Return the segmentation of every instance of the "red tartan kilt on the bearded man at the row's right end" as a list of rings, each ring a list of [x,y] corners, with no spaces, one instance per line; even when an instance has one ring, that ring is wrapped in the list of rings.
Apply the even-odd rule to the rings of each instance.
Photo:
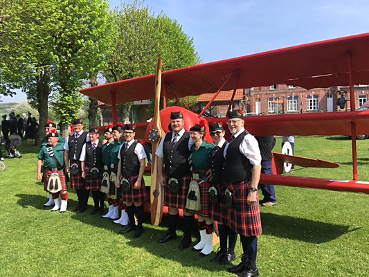
[[[262,222],[259,201],[257,199],[254,204],[246,204],[251,182],[240,181],[226,186],[233,193],[233,208],[228,208],[228,226],[240,235],[260,235]]]

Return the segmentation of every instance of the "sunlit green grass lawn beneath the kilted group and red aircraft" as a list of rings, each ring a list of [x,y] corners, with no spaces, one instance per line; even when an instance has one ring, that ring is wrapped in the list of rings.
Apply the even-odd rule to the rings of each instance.
[[[357,142],[362,181],[369,181],[368,147],[368,140]],[[73,190],[66,213],[51,213],[43,208],[48,195],[36,179],[38,148],[19,150],[23,158],[6,160],[0,172],[0,276],[235,276],[209,262],[213,256],[179,251],[179,238],[158,244],[168,227],[165,218],[158,227],[146,220],[145,233],[133,240],[131,233],[119,235],[122,228],[111,220],[71,211],[77,203]],[[274,150],[280,152],[280,139]],[[296,137],[295,152],[340,167],[296,167],[289,175],[352,179],[346,137]],[[260,276],[369,275],[368,195],[283,186],[276,186],[276,195],[277,206],[261,207]],[[89,205],[91,211],[91,198]],[[193,235],[198,236],[195,226]],[[241,253],[237,242],[236,254]]]

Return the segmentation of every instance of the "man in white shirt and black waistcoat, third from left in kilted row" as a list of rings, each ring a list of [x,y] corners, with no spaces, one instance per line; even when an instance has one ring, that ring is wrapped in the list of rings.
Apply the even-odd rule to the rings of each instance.
[[[84,143],[80,156],[82,178],[86,181],[84,188],[88,193],[88,196],[84,197],[80,213],[87,210],[89,193],[90,190],[92,190],[94,206],[90,215],[95,215],[101,208],[104,208],[104,203],[102,203],[102,206],[99,208],[102,172],[104,170],[102,164],[102,141],[98,139],[99,136],[99,129],[97,127],[91,127],[89,129],[90,141]]]

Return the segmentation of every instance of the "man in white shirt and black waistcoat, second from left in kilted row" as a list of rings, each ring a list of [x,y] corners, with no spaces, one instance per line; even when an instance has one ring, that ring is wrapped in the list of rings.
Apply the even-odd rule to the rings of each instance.
[[[82,118],[75,118],[72,122],[73,131],[66,137],[64,143],[64,164],[66,172],[71,172],[71,188],[75,189],[78,197],[78,205],[73,211],[80,211],[85,202],[84,198],[89,197],[89,191],[84,188],[84,179],[80,166],[80,154],[84,143],[89,141],[88,132],[83,131]],[[71,127],[72,130],[72,127]]]

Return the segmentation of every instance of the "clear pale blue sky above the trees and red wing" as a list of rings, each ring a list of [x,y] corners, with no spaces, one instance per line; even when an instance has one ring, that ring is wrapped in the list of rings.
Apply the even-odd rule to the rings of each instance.
[[[108,0],[111,8],[119,0]],[[203,62],[369,31],[369,1],[146,0],[194,38]],[[1,97],[3,102],[26,98]]]

